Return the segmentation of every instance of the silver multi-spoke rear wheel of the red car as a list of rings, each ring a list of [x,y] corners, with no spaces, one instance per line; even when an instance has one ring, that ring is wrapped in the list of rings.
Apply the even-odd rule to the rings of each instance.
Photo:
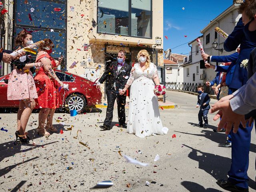
[[[68,96],[65,101],[65,108],[68,112],[70,112],[70,110],[83,112],[86,108],[86,105],[86,99],[81,94],[72,94]]]

